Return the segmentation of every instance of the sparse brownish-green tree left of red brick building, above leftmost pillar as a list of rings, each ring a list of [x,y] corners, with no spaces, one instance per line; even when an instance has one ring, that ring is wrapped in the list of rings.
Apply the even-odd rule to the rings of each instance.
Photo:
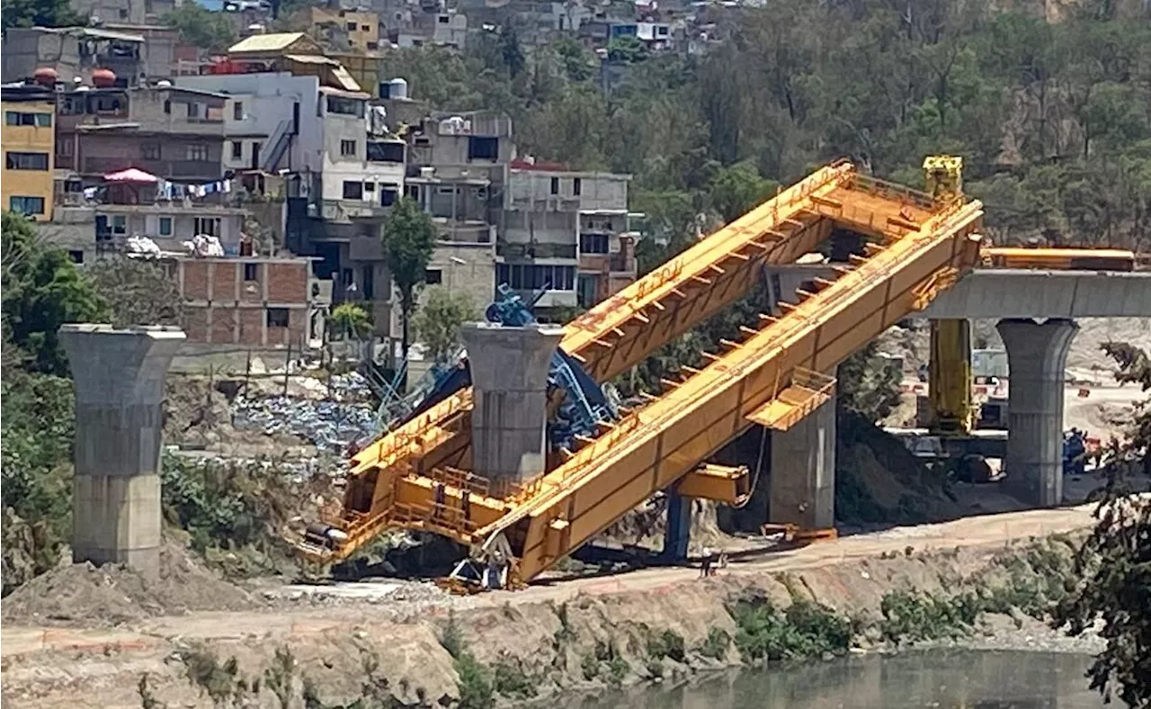
[[[87,275],[112,310],[112,323],[181,325],[184,304],[180,287],[163,264],[127,257],[100,259]]]

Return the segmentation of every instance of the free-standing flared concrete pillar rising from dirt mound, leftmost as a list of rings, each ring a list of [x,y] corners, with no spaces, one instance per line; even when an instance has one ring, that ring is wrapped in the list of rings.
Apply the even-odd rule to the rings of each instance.
[[[66,325],[76,391],[73,561],[160,561],[163,381],[184,343],[178,328]]]

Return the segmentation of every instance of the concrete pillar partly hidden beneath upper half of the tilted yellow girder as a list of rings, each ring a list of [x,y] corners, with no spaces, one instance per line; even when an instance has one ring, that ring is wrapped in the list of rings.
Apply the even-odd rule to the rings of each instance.
[[[836,525],[834,397],[790,429],[771,432],[768,519],[805,529]]]

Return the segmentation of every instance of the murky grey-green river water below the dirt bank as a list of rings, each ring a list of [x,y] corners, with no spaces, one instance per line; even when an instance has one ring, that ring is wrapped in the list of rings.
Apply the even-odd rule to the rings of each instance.
[[[572,709],[1100,709],[1067,653],[923,650],[852,656],[619,693]],[[1121,707],[1113,702],[1110,707]]]

